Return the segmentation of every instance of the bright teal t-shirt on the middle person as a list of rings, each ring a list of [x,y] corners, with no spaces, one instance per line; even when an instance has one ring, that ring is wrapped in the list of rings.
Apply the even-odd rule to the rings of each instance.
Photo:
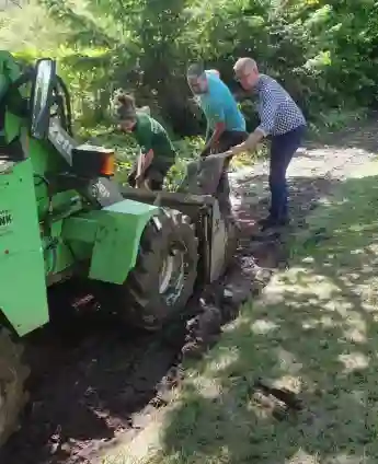
[[[206,71],[206,76],[208,92],[198,95],[198,103],[209,128],[214,130],[217,123],[225,123],[226,130],[245,131],[244,116],[229,88],[217,74]]]

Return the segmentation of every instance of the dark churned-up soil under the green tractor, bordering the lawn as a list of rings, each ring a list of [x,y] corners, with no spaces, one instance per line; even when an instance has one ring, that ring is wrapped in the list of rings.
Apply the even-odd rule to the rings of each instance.
[[[0,463],[87,464],[101,448],[137,433],[180,384],[183,357],[201,356],[237,314],[253,270],[240,248],[227,276],[193,297],[186,322],[159,334],[127,329],[101,312],[67,313],[77,289],[56,288],[50,305],[58,324],[25,341],[31,397]]]

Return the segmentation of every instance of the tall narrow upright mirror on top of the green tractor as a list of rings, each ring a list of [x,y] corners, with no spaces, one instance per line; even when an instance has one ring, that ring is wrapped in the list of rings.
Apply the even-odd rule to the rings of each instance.
[[[53,90],[56,83],[56,62],[42,58],[35,66],[31,98],[31,136],[42,140],[48,136]]]

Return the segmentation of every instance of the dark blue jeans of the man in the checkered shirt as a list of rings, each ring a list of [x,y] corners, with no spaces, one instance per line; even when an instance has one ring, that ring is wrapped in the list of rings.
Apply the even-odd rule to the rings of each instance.
[[[270,188],[272,194],[271,217],[282,220],[288,217],[286,171],[302,140],[306,126],[297,127],[282,136],[272,137]]]

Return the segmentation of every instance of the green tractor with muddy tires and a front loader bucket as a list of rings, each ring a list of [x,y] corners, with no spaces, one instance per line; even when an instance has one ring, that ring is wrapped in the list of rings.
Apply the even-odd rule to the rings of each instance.
[[[22,72],[0,53],[0,445],[26,401],[22,337],[50,321],[53,287],[80,279],[104,311],[158,330],[233,255],[222,162],[194,163],[179,193],[145,192],[112,179],[114,155],[75,140],[54,60]]]

